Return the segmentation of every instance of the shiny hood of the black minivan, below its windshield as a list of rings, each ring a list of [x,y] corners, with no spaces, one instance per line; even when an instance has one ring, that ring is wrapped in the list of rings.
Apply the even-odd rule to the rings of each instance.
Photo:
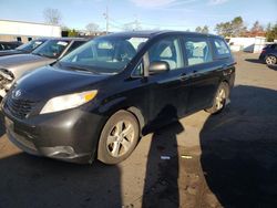
[[[61,70],[55,66],[44,66],[35,70],[16,83],[20,90],[33,101],[49,100],[54,96],[94,90],[93,85],[110,75],[91,74],[72,70]],[[24,96],[24,95],[23,95]]]

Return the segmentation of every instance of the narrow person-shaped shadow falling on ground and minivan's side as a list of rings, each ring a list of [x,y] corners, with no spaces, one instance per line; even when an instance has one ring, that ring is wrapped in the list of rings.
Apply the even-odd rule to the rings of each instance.
[[[176,119],[154,128],[147,156],[142,207],[179,207],[177,135],[184,132],[184,127],[177,121],[175,107],[168,105],[161,114],[164,114],[163,112]]]

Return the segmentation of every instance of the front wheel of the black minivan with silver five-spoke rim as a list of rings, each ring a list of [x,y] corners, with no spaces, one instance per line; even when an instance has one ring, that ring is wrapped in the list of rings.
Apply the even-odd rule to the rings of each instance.
[[[109,165],[123,162],[134,150],[138,135],[136,117],[126,111],[116,112],[102,129],[98,159]]]

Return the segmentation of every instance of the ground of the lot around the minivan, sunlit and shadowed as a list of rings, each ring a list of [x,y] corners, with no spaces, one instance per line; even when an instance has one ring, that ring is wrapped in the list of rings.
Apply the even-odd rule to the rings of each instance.
[[[0,208],[277,207],[277,71],[258,54],[235,56],[224,113],[199,112],[158,129],[117,166],[29,156],[2,127]]]

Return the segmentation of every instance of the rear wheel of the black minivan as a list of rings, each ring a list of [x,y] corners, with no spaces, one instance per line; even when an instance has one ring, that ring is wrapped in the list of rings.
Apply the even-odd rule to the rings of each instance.
[[[229,85],[226,82],[222,82],[217,89],[213,106],[211,108],[206,108],[205,111],[211,114],[220,113],[225,108],[228,98],[229,98]]]

